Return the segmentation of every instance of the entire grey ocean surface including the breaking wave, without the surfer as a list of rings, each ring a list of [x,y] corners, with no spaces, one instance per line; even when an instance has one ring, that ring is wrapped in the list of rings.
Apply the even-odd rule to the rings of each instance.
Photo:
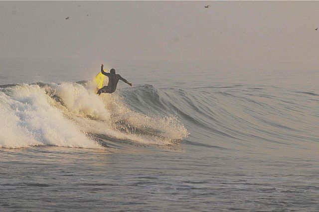
[[[0,211],[319,211],[309,64],[0,59]]]

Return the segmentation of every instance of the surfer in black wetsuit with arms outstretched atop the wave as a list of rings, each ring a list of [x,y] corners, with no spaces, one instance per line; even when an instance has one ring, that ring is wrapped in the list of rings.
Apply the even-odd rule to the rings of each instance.
[[[116,86],[119,82],[119,80],[122,80],[123,82],[129,84],[130,86],[132,86],[132,83],[128,82],[126,79],[124,79],[123,77],[121,77],[120,74],[116,74],[115,73],[115,69],[112,68],[110,70],[110,73],[107,73],[103,70],[103,64],[101,66],[101,72],[102,74],[104,74],[105,76],[109,77],[109,84],[107,86],[104,86],[103,88],[100,88],[98,90],[97,94],[101,94],[101,93],[113,93],[116,90]]]

